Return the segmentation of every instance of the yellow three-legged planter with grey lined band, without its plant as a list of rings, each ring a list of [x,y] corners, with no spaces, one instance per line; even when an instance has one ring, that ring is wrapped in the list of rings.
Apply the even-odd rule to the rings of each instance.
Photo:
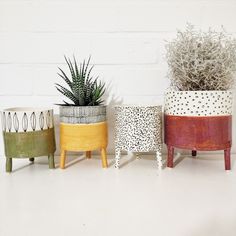
[[[65,159],[67,151],[85,151],[86,157],[91,158],[91,152],[94,150],[100,150],[102,158],[102,167],[106,168],[106,148],[108,144],[108,131],[107,122],[105,121],[106,116],[104,114],[104,106],[102,106],[102,120],[104,121],[96,123],[88,122],[90,120],[96,120],[96,117],[91,116],[92,107],[67,107],[67,111],[65,111],[64,108],[60,109],[61,169],[65,168]],[[95,111],[97,110],[99,112],[98,107],[94,108]],[[86,117],[86,111],[88,110],[90,110],[89,118]],[[99,121],[100,118],[98,118]]]

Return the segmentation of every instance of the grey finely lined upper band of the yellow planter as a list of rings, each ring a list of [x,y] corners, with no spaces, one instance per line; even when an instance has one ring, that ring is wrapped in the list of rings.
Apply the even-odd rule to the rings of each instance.
[[[106,121],[106,106],[60,106],[60,121],[91,124]]]

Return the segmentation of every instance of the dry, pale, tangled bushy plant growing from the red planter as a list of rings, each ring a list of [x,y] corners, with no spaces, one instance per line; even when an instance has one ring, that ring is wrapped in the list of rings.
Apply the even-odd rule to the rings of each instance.
[[[188,25],[166,45],[171,87],[177,90],[227,90],[234,85],[236,40],[224,30],[207,32]]]

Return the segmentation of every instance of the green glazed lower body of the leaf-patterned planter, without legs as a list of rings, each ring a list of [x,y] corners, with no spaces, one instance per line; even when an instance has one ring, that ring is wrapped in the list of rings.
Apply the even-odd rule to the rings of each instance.
[[[3,132],[3,137],[6,157],[33,158],[56,151],[54,128],[20,133]]]

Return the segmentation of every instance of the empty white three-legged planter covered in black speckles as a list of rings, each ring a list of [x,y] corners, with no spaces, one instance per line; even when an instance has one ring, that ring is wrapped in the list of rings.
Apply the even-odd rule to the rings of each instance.
[[[115,107],[115,151],[119,167],[121,151],[155,151],[162,167],[162,107],[122,105]]]

